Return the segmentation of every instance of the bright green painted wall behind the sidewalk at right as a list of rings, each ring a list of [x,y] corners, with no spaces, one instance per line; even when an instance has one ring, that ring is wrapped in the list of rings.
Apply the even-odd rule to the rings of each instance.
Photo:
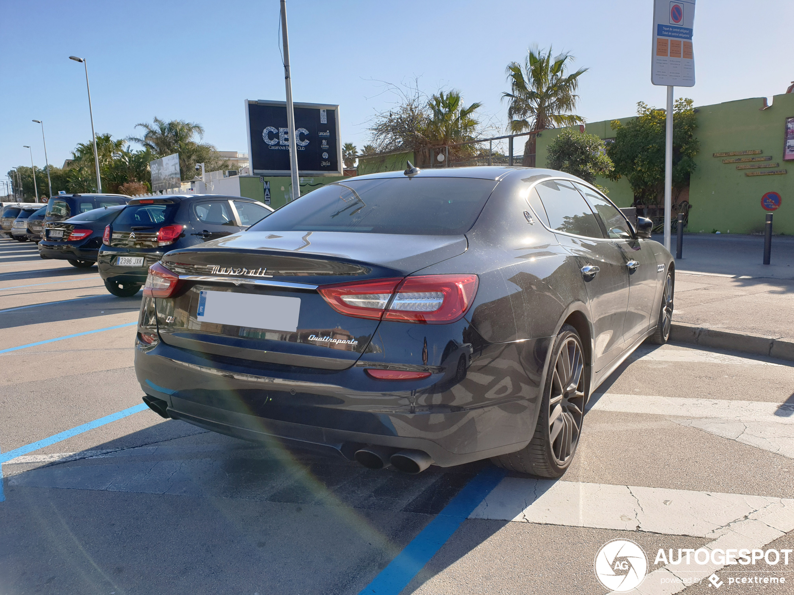
[[[695,158],[697,168],[689,182],[688,232],[757,233],[764,228],[766,211],[761,209],[761,196],[769,191],[781,194],[780,209],[775,211],[774,232],[794,234],[794,161],[783,161],[784,126],[787,117],[794,117],[794,94],[775,95],[772,105],[763,107],[763,98],[741,99],[699,107],[696,136],[700,152]],[[631,118],[620,118],[626,122]],[[538,138],[538,167],[546,167],[547,147],[562,129],[544,130]],[[585,131],[603,139],[615,138],[610,121],[590,122]],[[771,156],[769,163],[780,163],[785,175],[746,176],[738,165],[723,163],[729,157],[714,153],[757,149]],[[767,162],[761,162],[767,163]],[[760,171],[756,170],[756,171]],[[609,197],[619,206],[634,202],[626,178],[611,182],[598,178],[596,183],[607,188]]]

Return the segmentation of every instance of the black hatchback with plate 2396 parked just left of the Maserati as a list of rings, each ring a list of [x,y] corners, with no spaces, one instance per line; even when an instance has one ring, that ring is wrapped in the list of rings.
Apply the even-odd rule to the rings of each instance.
[[[273,212],[252,198],[168,194],[136,198],[105,229],[99,275],[111,294],[137,294],[148,267],[169,250],[189,248],[237,233]]]

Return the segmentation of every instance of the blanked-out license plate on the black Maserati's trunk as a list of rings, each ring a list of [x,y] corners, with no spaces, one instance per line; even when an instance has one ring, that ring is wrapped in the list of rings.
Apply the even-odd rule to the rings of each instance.
[[[196,320],[271,331],[298,330],[300,298],[276,295],[202,291],[198,294]]]

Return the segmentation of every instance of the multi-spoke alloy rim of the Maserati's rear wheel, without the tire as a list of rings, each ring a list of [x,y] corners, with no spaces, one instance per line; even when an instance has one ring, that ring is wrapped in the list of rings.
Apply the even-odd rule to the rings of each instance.
[[[576,451],[584,415],[584,359],[572,336],[560,346],[549,394],[549,444],[557,465],[563,466]]]

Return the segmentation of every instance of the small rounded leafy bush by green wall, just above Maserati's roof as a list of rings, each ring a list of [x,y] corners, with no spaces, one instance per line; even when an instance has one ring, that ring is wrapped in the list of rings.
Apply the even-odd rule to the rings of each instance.
[[[603,140],[595,134],[564,129],[549,143],[548,152],[551,169],[576,175],[591,184],[596,176],[607,178],[615,169]]]

